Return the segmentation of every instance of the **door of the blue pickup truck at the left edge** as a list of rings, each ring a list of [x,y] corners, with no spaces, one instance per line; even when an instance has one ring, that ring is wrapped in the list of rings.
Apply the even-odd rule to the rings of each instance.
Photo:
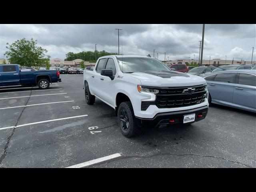
[[[0,86],[20,85],[20,69],[17,65],[2,65]]]

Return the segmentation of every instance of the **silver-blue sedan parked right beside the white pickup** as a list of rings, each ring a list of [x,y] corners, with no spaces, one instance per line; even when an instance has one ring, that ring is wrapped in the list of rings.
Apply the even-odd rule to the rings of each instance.
[[[204,76],[208,102],[256,112],[256,71],[224,70]]]

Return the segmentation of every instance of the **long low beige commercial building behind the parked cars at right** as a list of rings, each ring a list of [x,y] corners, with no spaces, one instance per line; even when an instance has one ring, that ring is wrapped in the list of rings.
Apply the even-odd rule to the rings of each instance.
[[[170,60],[166,61],[166,64],[188,64],[189,62],[192,63],[194,59],[177,59],[177,60]],[[198,60],[195,60],[198,64]],[[203,60],[202,65],[213,65],[213,66],[222,66],[222,65],[240,65],[240,64],[251,64],[251,61],[245,60],[223,60],[223,59],[212,59],[212,60]],[[256,61],[252,61],[253,65],[256,65]]]

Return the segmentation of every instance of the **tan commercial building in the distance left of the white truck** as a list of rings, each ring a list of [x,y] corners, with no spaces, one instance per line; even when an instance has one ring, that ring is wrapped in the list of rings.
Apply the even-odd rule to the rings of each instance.
[[[82,62],[82,59],[75,59],[73,61],[65,61],[59,58],[55,58],[50,60],[50,64],[52,67],[80,67],[80,63]],[[84,62],[84,65],[86,67],[88,66],[94,66],[96,63],[90,63],[88,61]]]

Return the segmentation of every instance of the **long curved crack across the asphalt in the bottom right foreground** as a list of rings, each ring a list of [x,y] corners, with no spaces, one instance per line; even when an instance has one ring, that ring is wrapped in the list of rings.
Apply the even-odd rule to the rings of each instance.
[[[91,166],[88,166],[88,167],[93,167],[95,165],[101,165],[101,164],[108,164],[110,162],[114,162],[114,161],[118,161],[118,160],[122,160],[122,159],[130,159],[130,158],[152,158],[152,157],[155,157],[155,156],[159,156],[159,155],[173,155],[173,156],[200,156],[200,157],[207,157],[207,158],[218,158],[218,159],[223,159],[223,160],[226,160],[226,161],[229,161],[229,162],[232,162],[232,163],[237,163],[237,164],[240,164],[242,166],[246,166],[246,167],[249,167],[249,168],[253,168],[252,166],[249,166],[249,165],[246,165],[244,163],[241,163],[241,162],[237,162],[237,161],[232,161],[232,160],[229,160],[229,159],[226,159],[226,158],[223,158],[223,157],[216,157],[216,156],[209,156],[209,155],[200,155],[200,154],[193,154],[193,153],[190,153],[190,154],[172,154],[172,153],[157,153],[157,154],[154,154],[154,155],[151,155],[151,156],[139,156],[139,155],[135,155],[135,156],[120,156],[118,158],[115,158],[115,159],[112,159],[112,160],[109,160],[109,161],[105,161],[105,162],[100,162],[100,163],[97,163],[97,164],[93,164]]]

